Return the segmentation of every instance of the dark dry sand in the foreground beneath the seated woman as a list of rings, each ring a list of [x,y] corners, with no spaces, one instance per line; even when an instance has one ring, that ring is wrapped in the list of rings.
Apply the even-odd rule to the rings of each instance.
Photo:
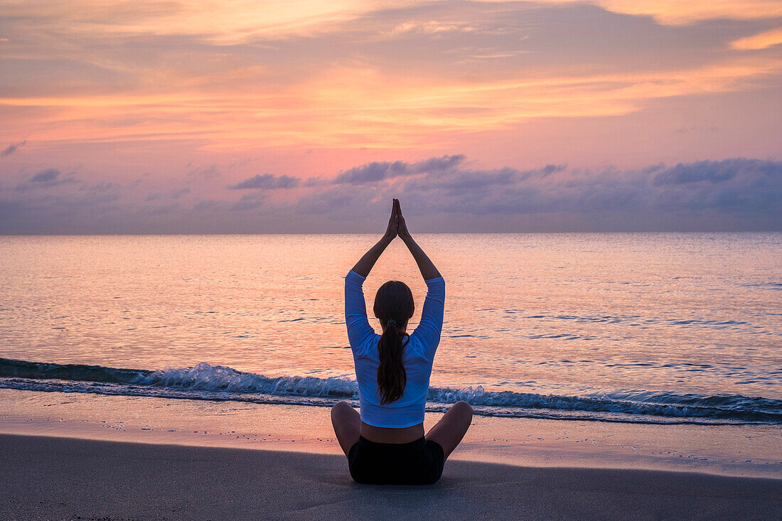
[[[428,487],[301,452],[0,435],[0,519],[780,519],[782,479],[449,461]]]

